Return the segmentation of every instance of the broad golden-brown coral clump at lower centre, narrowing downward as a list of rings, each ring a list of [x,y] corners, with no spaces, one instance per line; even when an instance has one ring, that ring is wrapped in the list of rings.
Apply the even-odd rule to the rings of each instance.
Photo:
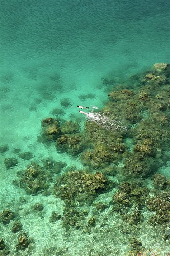
[[[79,205],[84,200],[90,204],[99,193],[111,187],[112,182],[99,172],[91,174],[86,171],[71,171],[63,175],[53,188],[53,193],[65,202],[62,224],[80,228],[87,212],[78,211],[75,201],[78,201]]]

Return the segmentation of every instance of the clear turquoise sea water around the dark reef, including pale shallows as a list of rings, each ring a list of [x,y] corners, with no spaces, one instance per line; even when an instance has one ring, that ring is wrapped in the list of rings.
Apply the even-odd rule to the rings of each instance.
[[[60,197],[53,193],[29,195],[12,181],[30,162],[42,164],[47,158],[84,168],[79,156],[56,150],[54,143],[39,142],[41,120],[58,117],[52,111],[61,109],[59,117],[76,121],[83,131],[86,118],[77,105],[101,110],[115,85],[131,87],[133,75],[142,74],[154,63],[170,63],[169,1],[1,1],[0,19],[0,145],[8,145],[1,153],[0,211],[14,211],[34,243],[24,251],[16,250],[18,233],[11,233],[13,220],[7,225],[0,223],[0,237],[10,255],[128,255],[128,234],[119,232],[122,220],[119,214],[110,214],[112,206],[97,215],[93,232],[74,227],[67,230],[61,220],[49,222],[52,211],[63,214]],[[114,82],[102,82],[106,77]],[[65,98],[70,100],[67,107],[61,103]],[[15,149],[35,157],[24,160]],[[12,169],[4,165],[9,157],[18,159]],[[66,171],[65,167],[55,174],[51,188]],[[158,172],[168,177],[168,162]],[[110,179],[121,182],[119,175]],[[153,188],[151,180],[147,183]],[[96,200],[108,203],[116,191],[113,188]],[[25,203],[20,202],[21,196]],[[44,205],[41,214],[32,210],[37,202]],[[91,216],[93,206],[88,207]],[[109,220],[102,228],[107,214]],[[144,209],[143,215],[148,211]],[[163,255],[168,252],[167,241],[156,232],[145,222],[138,239],[146,251]],[[55,249],[46,251],[51,247]]]

